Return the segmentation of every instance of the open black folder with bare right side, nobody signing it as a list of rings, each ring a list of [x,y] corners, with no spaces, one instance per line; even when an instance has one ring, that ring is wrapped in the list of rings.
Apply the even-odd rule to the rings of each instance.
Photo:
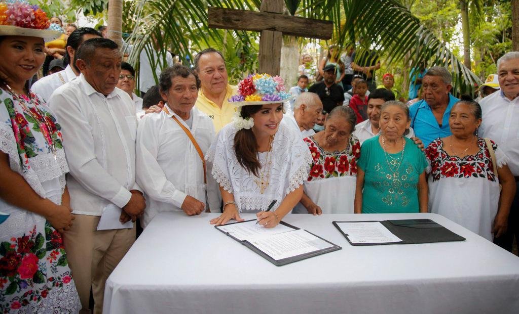
[[[465,240],[430,219],[334,221],[332,223],[354,246]]]

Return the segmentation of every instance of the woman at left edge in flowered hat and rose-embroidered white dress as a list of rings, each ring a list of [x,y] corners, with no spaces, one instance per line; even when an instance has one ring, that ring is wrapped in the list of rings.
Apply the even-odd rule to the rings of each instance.
[[[3,2],[0,16],[0,312],[77,313],[61,237],[74,219],[61,126],[26,85],[45,60],[44,38],[59,33],[44,30],[37,6]]]

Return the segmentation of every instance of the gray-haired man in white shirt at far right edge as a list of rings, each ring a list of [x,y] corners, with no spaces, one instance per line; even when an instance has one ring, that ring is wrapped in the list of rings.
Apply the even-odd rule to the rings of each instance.
[[[494,239],[500,247],[512,251],[514,236],[519,241],[519,51],[511,51],[497,60],[500,91],[481,100],[483,121],[480,137],[493,139],[508,156],[517,183],[506,234]]]

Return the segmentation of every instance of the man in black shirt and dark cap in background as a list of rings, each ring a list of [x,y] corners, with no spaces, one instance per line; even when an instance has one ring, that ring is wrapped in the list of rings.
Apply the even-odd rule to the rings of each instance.
[[[328,64],[323,70],[323,80],[313,84],[308,91],[319,95],[319,98],[323,103],[323,110],[330,112],[333,108],[343,104],[344,90],[335,83],[335,65]]]

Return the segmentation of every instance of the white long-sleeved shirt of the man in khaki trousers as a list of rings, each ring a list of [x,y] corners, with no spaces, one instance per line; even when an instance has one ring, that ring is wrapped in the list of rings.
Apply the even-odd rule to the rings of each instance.
[[[118,88],[106,97],[83,74],[58,88],[49,105],[63,129],[73,213],[101,216],[124,207],[135,184],[137,120],[130,96]]]

